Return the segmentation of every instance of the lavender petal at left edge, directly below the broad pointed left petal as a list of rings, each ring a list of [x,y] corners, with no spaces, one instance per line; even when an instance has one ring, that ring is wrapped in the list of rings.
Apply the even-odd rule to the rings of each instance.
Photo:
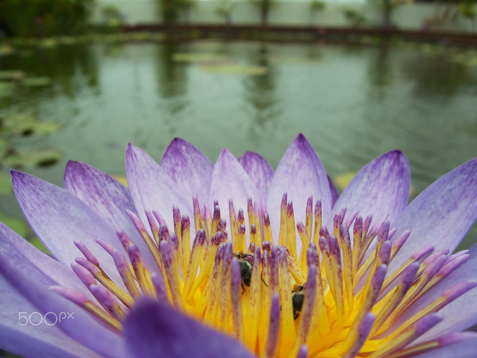
[[[0,252],[9,258],[10,263],[13,263],[22,274],[29,276],[30,272],[38,271],[41,276],[34,277],[37,282],[72,288],[93,299],[88,289],[69,267],[38,250],[3,222],[0,222]],[[46,276],[46,279],[43,276]]]

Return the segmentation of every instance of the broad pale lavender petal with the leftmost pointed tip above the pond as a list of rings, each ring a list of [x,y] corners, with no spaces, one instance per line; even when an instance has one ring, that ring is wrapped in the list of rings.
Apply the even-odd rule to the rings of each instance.
[[[96,238],[101,238],[114,248],[121,248],[109,224],[69,191],[27,173],[13,169],[10,172],[25,218],[58,261],[70,266],[80,254],[73,243],[78,240],[96,256],[109,277],[121,282],[112,257],[96,243]]]

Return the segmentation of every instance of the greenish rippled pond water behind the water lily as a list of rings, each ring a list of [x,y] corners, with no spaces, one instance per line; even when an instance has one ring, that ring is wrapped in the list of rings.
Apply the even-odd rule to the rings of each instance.
[[[477,157],[475,50],[90,43],[17,49],[0,57],[1,74],[0,116],[34,122],[2,132],[3,178],[15,166],[61,186],[68,159],[124,176],[128,142],[159,161],[174,137],[212,161],[228,147],[237,157],[257,151],[276,168],[302,132],[342,186],[376,156],[403,150],[415,197]],[[8,182],[2,185],[1,218],[21,219]],[[474,228],[461,248],[476,240]]]

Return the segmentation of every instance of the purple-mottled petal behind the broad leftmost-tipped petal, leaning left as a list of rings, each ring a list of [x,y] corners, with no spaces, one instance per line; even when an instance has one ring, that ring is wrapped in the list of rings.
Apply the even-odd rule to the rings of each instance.
[[[126,210],[136,213],[136,209],[131,193],[123,184],[88,164],[70,160],[64,169],[63,186],[88,204],[114,230],[126,232],[144,253],[145,260],[154,263],[144,240],[126,215]]]

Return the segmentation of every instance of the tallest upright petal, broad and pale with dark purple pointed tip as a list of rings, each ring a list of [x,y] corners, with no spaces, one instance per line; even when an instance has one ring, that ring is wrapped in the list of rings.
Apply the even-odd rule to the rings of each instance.
[[[328,178],[321,159],[302,134],[288,147],[270,183],[267,208],[274,237],[278,237],[280,231],[280,202],[285,191],[288,200],[293,202],[296,222],[305,222],[306,203],[313,195],[314,200],[321,199],[323,225],[332,225]]]

